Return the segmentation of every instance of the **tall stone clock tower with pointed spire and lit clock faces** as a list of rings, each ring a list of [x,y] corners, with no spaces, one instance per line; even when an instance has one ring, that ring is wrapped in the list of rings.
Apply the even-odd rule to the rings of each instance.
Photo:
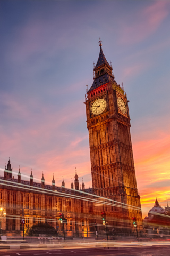
[[[94,83],[87,92],[92,187],[96,195],[114,200],[108,211],[123,226],[132,217],[142,221],[130,134],[128,99],[118,85],[99,41],[100,53],[94,68]],[[120,205],[120,206],[117,206]],[[106,213],[107,214],[107,213]]]

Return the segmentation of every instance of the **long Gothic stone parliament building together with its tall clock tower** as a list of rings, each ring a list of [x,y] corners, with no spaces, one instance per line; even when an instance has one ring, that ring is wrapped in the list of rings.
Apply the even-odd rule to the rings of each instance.
[[[142,225],[140,196],[135,177],[130,133],[128,98],[122,86],[115,81],[99,41],[99,58],[94,66],[94,82],[85,96],[87,128],[89,132],[92,188],[81,189],[77,171],[71,189],[46,185],[13,177],[11,161],[0,177],[0,206],[6,211],[2,218],[2,232],[7,236],[23,236],[24,228],[45,222],[66,237],[94,237],[106,233],[101,212],[106,213],[108,233],[131,235],[134,232],[132,217]],[[64,224],[60,223],[64,214]]]

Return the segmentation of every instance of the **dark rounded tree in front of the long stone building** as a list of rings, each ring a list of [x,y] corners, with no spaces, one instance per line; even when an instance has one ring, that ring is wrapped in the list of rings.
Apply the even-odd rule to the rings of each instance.
[[[48,236],[57,236],[57,230],[48,223],[39,222],[33,225],[31,228],[24,229],[25,236],[39,236],[39,235],[48,235]]]

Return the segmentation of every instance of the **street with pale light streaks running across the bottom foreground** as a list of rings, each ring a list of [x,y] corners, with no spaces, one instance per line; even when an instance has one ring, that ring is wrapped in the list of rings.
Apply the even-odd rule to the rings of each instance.
[[[117,242],[96,245],[94,243],[87,244],[86,247],[81,244],[74,244],[67,248],[61,247],[41,247],[41,248],[22,248],[16,249],[16,244],[11,249],[3,249],[1,245],[0,255],[3,256],[34,256],[34,255],[75,255],[75,256],[93,256],[93,255],[127,255],[127,256],[169,256],[170,245],[169,241],[165,242],[149,242],[149,243],[132,243],[132,242]],[[32,245],[33,246],[33,245]],[[41,245],[46,246],[46,245]],[[109,249],[107,248],[109,246]]]

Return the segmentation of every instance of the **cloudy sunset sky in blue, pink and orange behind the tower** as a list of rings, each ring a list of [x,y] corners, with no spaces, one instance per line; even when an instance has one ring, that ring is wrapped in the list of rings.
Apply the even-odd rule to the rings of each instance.
[[[0,175],[8,157],[20,171],[70,188],[91,183],[84,95],[93,82],[99,37],[127,93],[145,217],[170,205],[170,2],[0,2]],[[25,175],[25,176],[24,176]]]

